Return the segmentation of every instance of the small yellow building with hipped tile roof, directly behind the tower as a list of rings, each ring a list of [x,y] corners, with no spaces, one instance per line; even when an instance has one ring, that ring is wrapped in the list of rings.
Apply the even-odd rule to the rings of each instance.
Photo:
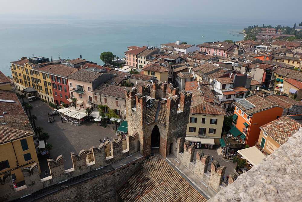
[[[144,75],[154,76],[157,80],[168,82],[169,70],[160,63],[152,63],[143,68]]]

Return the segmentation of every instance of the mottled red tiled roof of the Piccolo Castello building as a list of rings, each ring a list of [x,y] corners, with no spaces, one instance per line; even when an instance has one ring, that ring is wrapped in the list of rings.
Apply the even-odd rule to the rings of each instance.
[[[302,127],[302,124],[285,115],[259,128],[279,144],[284,144],[300,127]]]

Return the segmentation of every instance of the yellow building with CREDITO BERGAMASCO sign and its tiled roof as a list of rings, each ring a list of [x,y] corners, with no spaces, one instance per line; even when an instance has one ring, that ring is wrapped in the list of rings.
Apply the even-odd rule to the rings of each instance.
[[[14,91],[0,90],[0,177],[11,177],[18,187],[24,183],[22,167],[38,162],[34,131]],[[17,118],[16,118],[17,117]],[[40,171],[40,168],[39,168]]]

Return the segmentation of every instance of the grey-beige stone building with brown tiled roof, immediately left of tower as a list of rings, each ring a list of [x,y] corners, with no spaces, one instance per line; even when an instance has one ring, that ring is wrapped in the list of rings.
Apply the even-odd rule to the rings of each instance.
[[[125,89],[124,86],[100,84],[92,91],[94,93],[94,104],[104,105],[104,112],[106,113],[109,109],[113,109],[115,114],[122,116],[126,109]]]

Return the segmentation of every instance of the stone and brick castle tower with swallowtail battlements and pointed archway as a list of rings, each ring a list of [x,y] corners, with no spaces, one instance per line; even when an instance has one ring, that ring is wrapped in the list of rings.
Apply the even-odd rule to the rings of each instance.
[[[163,157],[176,154],[176,139],[186,135],[192,93],[158,82],[127,88],[125,94],[128,134],[138,139],[141,154],[149,155],[151,146]]]

